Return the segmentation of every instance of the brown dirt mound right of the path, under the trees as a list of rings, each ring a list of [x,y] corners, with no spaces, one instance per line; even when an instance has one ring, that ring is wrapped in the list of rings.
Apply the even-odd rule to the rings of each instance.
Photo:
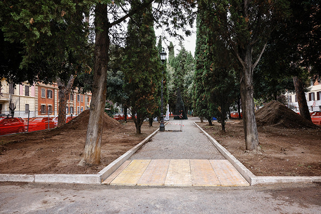
[[[255,112],[256,125],[272,125],[282,128],[318,128],[285,105],[271,101]]]

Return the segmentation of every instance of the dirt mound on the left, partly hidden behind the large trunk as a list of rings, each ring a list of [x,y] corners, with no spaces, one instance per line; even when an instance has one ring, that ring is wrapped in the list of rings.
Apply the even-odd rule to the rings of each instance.
[[[88,122],[89,122],[89,109],[81,112],[77,117],[73,118],[69,123],[61,126],[61,129],[64,130],[87,130],[87,126],[88,126]],[[122,125],[112,119],[111,117],[109,117],[106,112],[104,112],[104,118],[103,118],[103,128],[118,128],[121,127]]]

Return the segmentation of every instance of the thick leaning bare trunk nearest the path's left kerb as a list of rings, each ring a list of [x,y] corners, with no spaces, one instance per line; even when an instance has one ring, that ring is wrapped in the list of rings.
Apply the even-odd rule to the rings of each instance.
[[[87,164],[99,164],[103,132],[103,114],[107,91],[107,64],[109,49],[109,26],[107,5],[96,4],[95,8],[95,64],[87,128],[84,161]]]

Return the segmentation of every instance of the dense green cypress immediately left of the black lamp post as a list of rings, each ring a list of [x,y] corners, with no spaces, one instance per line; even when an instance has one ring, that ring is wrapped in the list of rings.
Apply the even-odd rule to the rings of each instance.
[[[132,1],[132,9],[137,5]],[[136,133],[140,134],[143,121],[159,107],[160,56],[156,48],[151,5],[129,21],[125,54],[125,91]]]

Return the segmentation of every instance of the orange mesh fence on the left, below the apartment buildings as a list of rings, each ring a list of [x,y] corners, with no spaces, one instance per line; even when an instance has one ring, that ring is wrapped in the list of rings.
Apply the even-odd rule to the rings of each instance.
[[[66,115],[66,122],[77,115]],[[31,132],[51,129],[58,124],[57,112],[48,111],[46,114],[36,114],[35,111],[1,111],[0,135],[19,132]]]

